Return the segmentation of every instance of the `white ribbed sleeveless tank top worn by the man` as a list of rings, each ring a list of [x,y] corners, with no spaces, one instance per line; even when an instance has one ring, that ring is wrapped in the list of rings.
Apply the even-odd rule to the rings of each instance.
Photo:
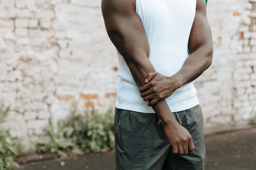
[[[187,45],[196,13],[196,0],[136,0],[140,17],[150,46],[149,60],[164,76],[177,73],[188,57]],[[155,113],[140,96],[124,58],[117,52],[120,64],[117,85],[117,108]],[[177,89],[166,102],[172,112],[199,104],[194,82]]]

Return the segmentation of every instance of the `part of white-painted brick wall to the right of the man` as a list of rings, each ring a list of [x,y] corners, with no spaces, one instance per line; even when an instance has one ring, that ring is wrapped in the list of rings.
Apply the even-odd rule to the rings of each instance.
[[[256,2],[256,1],[255,1]],[[245,122],[255,114],[255,2],[210,0],[213,63],[196,80],[205,127]],[[251,98],[251,99],[250,99]]]

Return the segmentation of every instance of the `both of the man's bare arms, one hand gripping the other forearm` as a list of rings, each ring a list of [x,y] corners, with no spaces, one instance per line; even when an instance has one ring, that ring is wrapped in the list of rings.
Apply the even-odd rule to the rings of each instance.
[[[136,0],[102,0],[102,14],[107,33],[123,56],[140,88],[141,96],[163,122],[173,153],[186,155],[194,149],[189,132],[175,120],[165,98],[199,77],[211,64],[213,45],[206,17],[205,0],[197,0],[196,17],[189,37],[191,55],[178,73],[165,77],[156,73],[149,61],[149,44],[143,24],[135,12]],[[165,84],[161,89],[159,84]]]

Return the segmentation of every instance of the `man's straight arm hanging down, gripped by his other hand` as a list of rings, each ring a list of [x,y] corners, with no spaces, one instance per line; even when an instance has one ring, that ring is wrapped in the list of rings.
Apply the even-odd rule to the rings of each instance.
[[[135,7],[136,0],[102,0],[101,4],[112,43],[123,56],[137,85],[143,87],[148,74],[156,70],[148,59],[149,43]],[[163,122],[164,133],[173,147],[173,154],[187,155],[193,151],[195,147],[191,135],[176,121],[165,99],[151,107]]]

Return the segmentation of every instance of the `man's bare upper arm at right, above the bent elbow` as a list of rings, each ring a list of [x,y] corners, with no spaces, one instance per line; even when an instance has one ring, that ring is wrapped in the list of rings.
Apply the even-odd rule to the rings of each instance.
[[[196,2],[196,15],[191,28],[188,46],[191,53],[200,46],[212,47],[212,32],[207,20],[205,0],[197,0]]]

